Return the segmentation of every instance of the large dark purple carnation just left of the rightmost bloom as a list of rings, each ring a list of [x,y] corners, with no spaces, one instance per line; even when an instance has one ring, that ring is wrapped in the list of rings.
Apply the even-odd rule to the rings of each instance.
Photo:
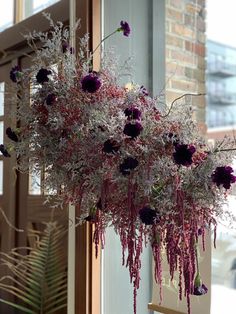
[[[192,164],[192,156],[196,149],[193,145],[176,144],[173,153],[174,161],[177,165],[190,166]]]

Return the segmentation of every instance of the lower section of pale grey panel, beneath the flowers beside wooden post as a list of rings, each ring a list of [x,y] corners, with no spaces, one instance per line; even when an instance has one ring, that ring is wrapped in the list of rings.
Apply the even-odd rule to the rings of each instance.
[[[137,292],[137,314],[151,314],[147,304],[151,301],[151,252],[144,248]],[[122,302],[121,302],[122,300]],[[133,313],[133,285],[128,268],[122,266],[122,249],[118,235],[106,229],[106,244],[102,251],[102,314]]]

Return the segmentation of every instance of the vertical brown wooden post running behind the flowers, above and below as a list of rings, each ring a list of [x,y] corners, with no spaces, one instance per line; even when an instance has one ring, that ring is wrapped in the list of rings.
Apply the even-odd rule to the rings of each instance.
[[[76,34],[76,49],[85,33],[90,35],[90,50],[100,42],[100,0],[75,0],[76,20],[81,19],[81,27]],[[99,69],[99,51],[93,60],[94,69]],[[77,216],[80,214],[77,209]],[[95,259],[93,229],[86,223],[76,229],[76,314],[100,313],[100,259]]]

